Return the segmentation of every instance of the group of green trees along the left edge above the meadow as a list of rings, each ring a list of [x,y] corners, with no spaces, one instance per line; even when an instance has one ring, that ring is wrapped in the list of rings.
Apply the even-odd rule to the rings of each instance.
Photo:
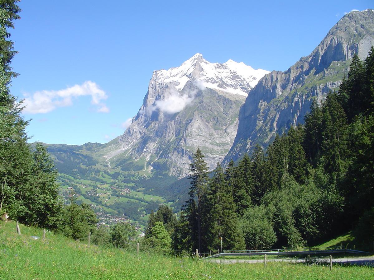
[[[63,205],[53,161],[41,143],[27,143],[22,101],[10,93],[10,83],[18,75],[10,66],[17,52],[9,39],[9,29],[19,19],[17,2],[0,0],[0,217],[7,213],[11,220],[84,239],[96,228],[94,212],[74,199]]]

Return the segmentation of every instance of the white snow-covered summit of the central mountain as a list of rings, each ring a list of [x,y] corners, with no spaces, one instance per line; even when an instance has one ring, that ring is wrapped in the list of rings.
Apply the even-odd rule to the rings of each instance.
[[[222,64],[211,63],[202,54],[196,53],[179,67],[154,71],[152,80],[159,88],[172,83],[177,90],[182,90],[188,80],[198,79],[205,87],[247,96],[249,90],[267,73],[269,71],[256,70],[231,59]]]

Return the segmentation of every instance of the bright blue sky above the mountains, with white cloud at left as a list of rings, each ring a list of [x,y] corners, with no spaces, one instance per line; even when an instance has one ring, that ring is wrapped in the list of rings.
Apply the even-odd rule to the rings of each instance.
[[[155,69],[195,53],[286,70],[353,9],[372,1],[21,1],[10,32],[20,75],[12,94],[30,100],[30,142],[105,143],[142,105]],[[59,96],[59,99],[56,99]]]

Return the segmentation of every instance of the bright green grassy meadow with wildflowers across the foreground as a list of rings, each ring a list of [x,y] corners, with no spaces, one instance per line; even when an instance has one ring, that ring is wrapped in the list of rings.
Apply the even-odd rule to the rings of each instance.
[[[373,279],[368,267],[269,262],[263,264],[208,263],[153,253],[99,248],[42,230],[0,221],[0,279]]]

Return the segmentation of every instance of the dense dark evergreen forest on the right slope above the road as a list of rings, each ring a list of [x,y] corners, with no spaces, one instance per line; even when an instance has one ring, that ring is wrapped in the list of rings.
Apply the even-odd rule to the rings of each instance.
[[[256,146],[237,165],[231,161],[223,170],[217,164],[209,178],[198,148],[190,165],[190,199],[169,230],[172,251],[217,252],[221,244],[224,250],[300,248],[349,230],[369,244],[373,108],[372,47],[364,62],[353,56],[338,92],[321,105],[314,99],[305,124],[276,135],[266,152]]]

